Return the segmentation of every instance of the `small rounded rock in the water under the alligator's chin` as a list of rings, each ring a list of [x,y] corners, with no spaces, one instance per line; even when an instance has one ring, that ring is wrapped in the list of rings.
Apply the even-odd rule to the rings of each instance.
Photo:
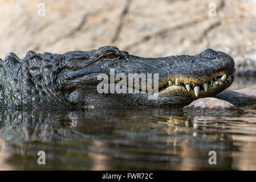
[[[207,114],[230,114],[237,110],[233,104],[213,97],[200,98],[184,107],[186,111],[196,111]]]

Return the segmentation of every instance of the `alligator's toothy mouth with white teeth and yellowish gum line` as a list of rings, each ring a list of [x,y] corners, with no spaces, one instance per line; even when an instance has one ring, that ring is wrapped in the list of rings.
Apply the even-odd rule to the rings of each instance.
[[[234,80],[234,73],[229,75],[222,75],[214,77],[212,80],[206,81],[204,84],[195,84],[194,86],[190,84],[184,84],[180,82],[178,78],[174,82],[168,81],[163,86],[159,87],[159,93],[169,93],[172,90],[180,89],[182,92],[186,92],[187,94],[193,94],[193,96],[200,96],[201,94],[207,95],[208,92],[218,93],[220,89],[222,89],[225,85],[230,86]],[[225,88],[224,88],[225,89]]]

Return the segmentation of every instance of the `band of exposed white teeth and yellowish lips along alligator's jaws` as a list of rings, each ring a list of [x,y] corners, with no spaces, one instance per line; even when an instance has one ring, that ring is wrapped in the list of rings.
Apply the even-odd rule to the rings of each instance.
[[[222,75],[215,77],[212,80],[205,82],[202,85],[196,85],[192,87],[189,84],[183,84],[177,79],[175,82],[168,81],[168,84],[159,88],[160,96],[172,97],[174,93],[182,93],[193,98],[210,97],[222,92],[224,89],[229,87],[234,80],[234,73],[230,75]]]

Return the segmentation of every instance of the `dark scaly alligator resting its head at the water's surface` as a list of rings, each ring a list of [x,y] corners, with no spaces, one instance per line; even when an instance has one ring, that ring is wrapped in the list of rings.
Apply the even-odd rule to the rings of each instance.
[[[143,90],[142,81],[136,87],[139,93],[99,93],[99,75],[109,78],[111,70],[127,78],[107,82],[108,90],[119,81],[127,83],[129,74],[158,74],[158,84],[152,83],[151,88],[157,90],[157,97],[149,99],[152,93]],[[129,55],[113,46],[64,54],[28,51],[22,60],[10,52],[5,60],[0,59],[0,104],[36,108],[184,106],[225,90],[234,81],[234,72],[232,57],[213,49],[195,56],[159,58]],[[136,90],[135,84],[121,87]]]

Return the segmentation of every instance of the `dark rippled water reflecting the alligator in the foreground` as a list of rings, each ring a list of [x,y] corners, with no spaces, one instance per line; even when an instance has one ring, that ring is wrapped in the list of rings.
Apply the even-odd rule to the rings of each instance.
[[[0,169],[255,170],[256,106],[242,109],[226,115],[182,107],[2,109]],[[38,151],[46,152],[46,165],[38,165]],[[216,165],[208,163],[209,151],[216,151]]]

